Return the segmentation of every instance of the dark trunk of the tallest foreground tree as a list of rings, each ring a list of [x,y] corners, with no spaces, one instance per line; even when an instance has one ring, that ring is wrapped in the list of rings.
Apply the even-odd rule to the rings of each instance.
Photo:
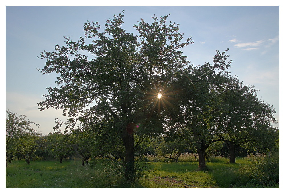
[[[122,140],[126,149],[125,156],[125,178],[128,181],[135,180],[135,151],[134,151],[134,135],[133,129],[135,124],[129,124],[125,131]]]

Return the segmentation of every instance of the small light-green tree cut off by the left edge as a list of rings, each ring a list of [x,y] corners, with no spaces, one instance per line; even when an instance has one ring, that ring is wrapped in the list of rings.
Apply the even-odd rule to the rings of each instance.
[[[27,163],[30,163],[30,155],[40,146],[38,142],[40,134],[34,130],[33,125],[40,127],[39,124],[30,120],[25,120],[25,115],[17,116],[6,110],[5,119],[5,147],[6,147],[6,165],[13,156],[23,154]]]

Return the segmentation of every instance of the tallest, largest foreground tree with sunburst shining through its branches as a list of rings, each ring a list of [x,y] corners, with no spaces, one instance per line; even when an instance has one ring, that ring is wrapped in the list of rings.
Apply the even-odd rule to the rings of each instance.
[[[47,59],[40,72],[59,76],[58,87],[47,88],[39,109],[62,109],[68,116],[66,122],[57,120],[55,130],[63,123],[66,129],[80,123],[107,123],[110,135],[123,142],[125,178],[131,181],[134,134],[163,132],[158,94],[188,63],[179,49],[193,43],[191,38],[182,42],[179,25],[167,24],[167,17],[154,16],[152,24],[141,19],[134,25],[138,35],[122,29],[122,14],[107,20],[103,31],[98,22],[87,21],[85,37],[77,42],[66,38],[65,46],[56,45],[55,51],[44,51],[40,57]],[[93,57],[80,54],[86,52]]]

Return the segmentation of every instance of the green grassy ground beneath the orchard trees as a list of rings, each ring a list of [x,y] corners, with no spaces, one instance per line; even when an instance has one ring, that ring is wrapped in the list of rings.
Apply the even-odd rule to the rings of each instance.
[[[247,184],[239,169],[248,164],[237,158],[213,158],[207,170],[199,171],[198,162],[152,161],[150,169],[135,183],[127,183],[109,164],[97,161],[81,166],[79,161],[12,161],[6,168],[6,188],[279,188]]]

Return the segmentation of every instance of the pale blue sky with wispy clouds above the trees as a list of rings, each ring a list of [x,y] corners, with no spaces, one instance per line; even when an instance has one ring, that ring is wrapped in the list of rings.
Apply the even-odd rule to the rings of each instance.
[[[107,19],[125,10],[123,28],[136,33],[141,18],[165,16],[179,23],[185,39],[194,44],[183,49],[191,64],[211,62],[216,50],[229,48],[231,71],[240,81],[259,89],[261,100],[273,105],[280,120],[279,6],[6,6],[5,14],[5,109],[25,114],[41,125],[43,134],[53,131],[60,110],[39,111],[46,87],[55,86],[56,74],[42,75],[37,59],[43,50],[64,45],[63,36],[78,40],[84,23]],[[279,124],[277,125],[279,126]]]

